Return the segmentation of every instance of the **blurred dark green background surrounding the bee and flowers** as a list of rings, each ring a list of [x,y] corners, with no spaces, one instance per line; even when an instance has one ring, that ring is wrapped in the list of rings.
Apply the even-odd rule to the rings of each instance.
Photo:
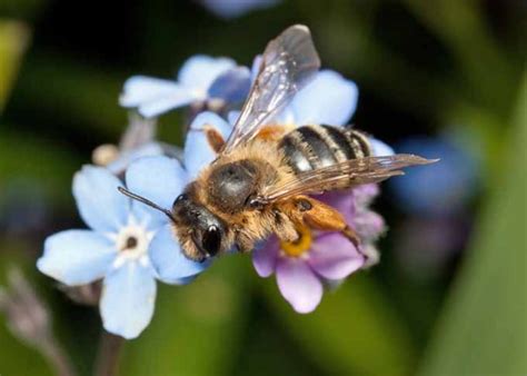
[[[199,1],[0,0],[0,284],[12,266],[23,269],[76,370],[90,375],[98,313],[71,303],[34,261],[46,236],[82,226],[71,177],[125,129],[122,82],[173,77],[196,53],[249,66],[298,22],[311,28],[324,66],[359,86],[357,127],[392,145],[448,133],[478,160],[477,181],[454,216],[405,210],[386,186],[376,205],[390,227],[381,264],[307,316],[256,276],[249,257],[226,257],[189,286],[162,286],[119,374],[526,375],[520,0],[285,0],[232,19]],[[180,144],[181,121],[178,111],[162,118],[160,138]],[[52,375],[6,317],[0,375]]]

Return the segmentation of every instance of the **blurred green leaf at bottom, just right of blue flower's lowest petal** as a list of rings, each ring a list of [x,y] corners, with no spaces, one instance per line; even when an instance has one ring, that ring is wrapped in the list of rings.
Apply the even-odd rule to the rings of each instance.
[[[190,285],[159,285],[152,323],[127,344],[120,374],[229,375],[248,309],[243,263],[223,257]]]

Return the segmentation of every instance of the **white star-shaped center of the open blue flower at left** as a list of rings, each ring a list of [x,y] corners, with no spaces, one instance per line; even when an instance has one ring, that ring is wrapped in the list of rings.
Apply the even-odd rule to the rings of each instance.
[[[118,250],[113,267],[118,268],[127,261],[138,261],[142,266],[149,264],[148,246],[153,238],[153,231],[148,231],[146,226],[138,225],[133,217],[130,217],[128,225],[111,238],[116,241]]]

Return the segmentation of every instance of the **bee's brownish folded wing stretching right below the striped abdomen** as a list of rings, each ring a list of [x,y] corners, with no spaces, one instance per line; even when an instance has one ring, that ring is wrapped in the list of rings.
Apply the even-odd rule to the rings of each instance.
[[[437,160],[406,154],[351,159],[296,175],[289,180],[269,187],[258,200],[268,204],[297,195],[320,194],[334,189],[379,182],[392,176],[404,175],[400,170],[404,167],[427,165]]]

